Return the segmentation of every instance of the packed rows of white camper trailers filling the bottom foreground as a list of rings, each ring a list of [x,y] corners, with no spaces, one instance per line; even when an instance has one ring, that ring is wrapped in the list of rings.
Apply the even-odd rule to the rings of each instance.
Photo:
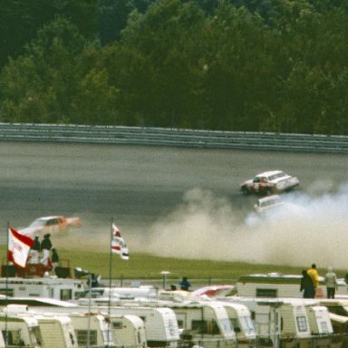
[[[0,279],[0,292],[0,347],[348,347],[345,300],[86,292],[54,277]]]

